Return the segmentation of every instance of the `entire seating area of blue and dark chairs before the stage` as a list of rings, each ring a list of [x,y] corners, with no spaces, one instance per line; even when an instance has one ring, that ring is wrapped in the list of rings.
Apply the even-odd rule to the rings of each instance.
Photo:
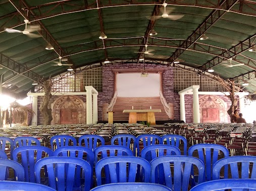
[[[252,124],[185,123],[2,128],[0,187],[16,182],[24,191],[32,185],[59,191],[138,186],[178,191],[229,179],[239,183],[239,178],[255,184],[254,129]]]

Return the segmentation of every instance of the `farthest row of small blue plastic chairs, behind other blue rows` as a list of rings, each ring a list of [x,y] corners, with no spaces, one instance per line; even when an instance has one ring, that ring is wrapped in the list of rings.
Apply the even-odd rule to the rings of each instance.
[[[181,141],[183,142],[182,144],[180,144]],[[10,144],[11,156],[13,149],[16,148],[17,146],[32,144],[40,145],[40,141],[34,137],[17,137],[14,140],[12,140],[9,137],[0,137],[0,147],[2,151],[5,151],[7,143]],[[98,147],[98,145],[105,145],[105,140],[103,137],[100,137],[99,135],[83,135],[79,137],[78,143],[80,146],[84,146],[91,150],[94,150],[96,147]],[[141,147],[140,143],[142,143]],[[148,134],[139,135],[137,137],[128,134],[116,135],[111,139],[111,144],[118,144],[131,148],[134,156],[140,155],[139,148],[143,148],[153,144],[167,144],[176,146],[178,148],[180,145],[182,145],[184,155],[186,155],[187,152],[187,140],[185,137],[179,135],[165,135],[163,137]],[[55,150],[56,148],[61,146],[77,145],[77,140],[76,138],[69,135],[56,135],[50,139],[50,145],[52,147],[52,150]]]

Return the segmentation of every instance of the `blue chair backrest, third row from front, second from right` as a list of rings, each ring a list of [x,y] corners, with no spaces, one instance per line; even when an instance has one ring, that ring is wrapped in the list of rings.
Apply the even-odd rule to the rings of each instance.
[[[180,149],[172,145],[149,145],[141,150],[141,158],[146,159],[148,162],[165,155],[181,155]]]

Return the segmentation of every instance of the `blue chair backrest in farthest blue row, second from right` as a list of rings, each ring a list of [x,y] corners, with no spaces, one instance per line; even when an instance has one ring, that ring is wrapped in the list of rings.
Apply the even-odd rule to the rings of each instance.
[[[139,143],[142,142],[143,148],[149,145],[161,144],[161,137],[158,135],[143,134],[136,137],[137,156],[140,156]]]

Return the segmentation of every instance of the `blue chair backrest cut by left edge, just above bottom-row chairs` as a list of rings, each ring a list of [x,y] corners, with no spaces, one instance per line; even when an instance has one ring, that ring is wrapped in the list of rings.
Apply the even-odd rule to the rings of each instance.
[[[9,159],[0,159],[0,180],[7,180],[7,175],[9,175],[9,168],[15,171],[15,180],[24,181],[24,168],[18,162]]]

